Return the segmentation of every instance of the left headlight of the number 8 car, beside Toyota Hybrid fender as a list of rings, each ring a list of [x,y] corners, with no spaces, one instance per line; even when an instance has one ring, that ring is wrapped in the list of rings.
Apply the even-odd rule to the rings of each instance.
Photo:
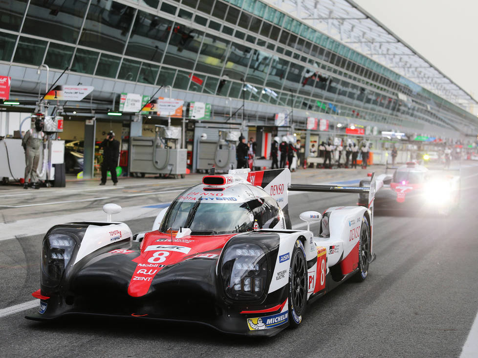
[[[76,246],[76,240],[65,234],[47,234],[43,239],[42,278],[46,287],[60,284],[65,267],[68,265]]]

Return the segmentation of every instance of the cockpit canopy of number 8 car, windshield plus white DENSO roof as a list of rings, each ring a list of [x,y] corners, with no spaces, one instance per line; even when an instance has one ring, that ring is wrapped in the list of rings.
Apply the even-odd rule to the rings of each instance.
[[[250,184],[227,188],[196,185],[171,203],[159,230],[190,228],[191,235],[234,234],[260,228],[283,228],[282,210],[268,193]]]

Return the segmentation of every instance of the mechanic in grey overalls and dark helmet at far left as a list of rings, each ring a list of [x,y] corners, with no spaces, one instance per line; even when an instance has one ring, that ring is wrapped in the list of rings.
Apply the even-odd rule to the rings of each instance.
[[[25,182],[23,189],[28,189],[28,180],[31,178],[32,188],[40,189],[40,183],[37,178],[38,162],[40,160],[40,151],[43,146],[43,118],[35,119],[35,128],[25,133],[22,139],[22,147],[25,150]]]

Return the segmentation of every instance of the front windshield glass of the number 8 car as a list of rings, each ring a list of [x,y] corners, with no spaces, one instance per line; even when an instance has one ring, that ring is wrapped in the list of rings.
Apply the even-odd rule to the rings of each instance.
[[[190,228],[192,235],[233,234],[251,231],[253,215],[246,202],[212,203],[175,200],[164,216],[161,231]]]

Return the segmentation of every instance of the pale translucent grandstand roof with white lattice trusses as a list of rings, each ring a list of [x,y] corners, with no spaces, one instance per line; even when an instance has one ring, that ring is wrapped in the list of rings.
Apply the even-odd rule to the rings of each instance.
[[[352,0],[266,1],[461,108],[478,103]]]

